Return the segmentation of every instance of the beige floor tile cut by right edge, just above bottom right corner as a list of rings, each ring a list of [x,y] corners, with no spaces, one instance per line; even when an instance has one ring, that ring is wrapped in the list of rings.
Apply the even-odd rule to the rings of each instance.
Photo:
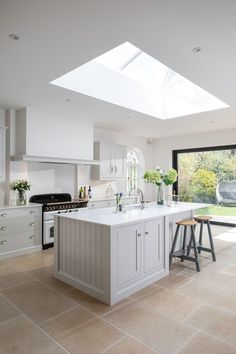
[[[187,323],[236,344],[236,314],[202,305]]]

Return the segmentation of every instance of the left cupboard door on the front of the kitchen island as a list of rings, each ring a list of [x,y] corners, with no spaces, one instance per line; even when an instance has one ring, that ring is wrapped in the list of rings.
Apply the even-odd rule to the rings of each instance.
[[[118,286],[132,281],[141,271],[141,226],[121,227],[117,231]]]

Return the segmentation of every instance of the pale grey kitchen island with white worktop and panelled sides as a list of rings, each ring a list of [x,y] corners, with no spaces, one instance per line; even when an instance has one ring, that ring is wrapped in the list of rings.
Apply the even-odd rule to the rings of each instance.
[[[55,277],[113,305],[169,274],[175,222],[204,206],[150,203],[143,210],[83,209],[55,216]]]

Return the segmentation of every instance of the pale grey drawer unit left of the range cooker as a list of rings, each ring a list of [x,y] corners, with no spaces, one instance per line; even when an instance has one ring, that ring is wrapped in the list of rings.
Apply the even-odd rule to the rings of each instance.
[[[40,250],[42,207],[0,209],[0,259]]]

